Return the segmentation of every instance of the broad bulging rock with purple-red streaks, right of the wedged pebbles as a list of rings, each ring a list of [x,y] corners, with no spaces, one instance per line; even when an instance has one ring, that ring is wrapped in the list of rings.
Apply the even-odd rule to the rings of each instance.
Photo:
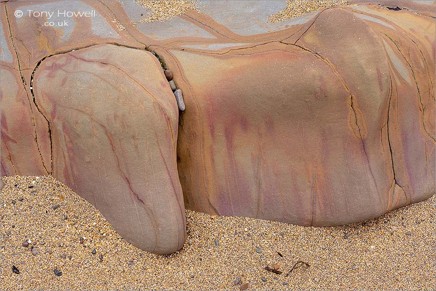
[[[374,23],[327,9],[281,43],[221,55],[171,50],[186,207],[329,226],[432,196],[435,21],[405,12],[429,28],[409,33],[385,10]]]

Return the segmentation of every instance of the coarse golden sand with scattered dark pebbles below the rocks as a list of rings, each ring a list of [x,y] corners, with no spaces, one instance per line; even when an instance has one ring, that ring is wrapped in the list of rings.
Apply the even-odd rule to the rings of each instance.
[[[51,176],[3,177],[3,182],[1,290],[239,290],[245,283],[247,290],[435,286],[434,196],[380,218],[327,228],[187,210],[186,244],[158,256],[128,244],[91,204]],[[310,266],[286,276],[298,260]],[[265,271],[276,264],[283,274]]]

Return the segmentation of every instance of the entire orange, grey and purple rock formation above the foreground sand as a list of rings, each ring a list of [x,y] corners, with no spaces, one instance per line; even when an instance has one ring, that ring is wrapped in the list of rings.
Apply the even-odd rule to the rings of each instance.
[[[184,207],[328,226],[426,199],[435,2],[350,4],[272,24],[286,1],[152,23],[130,1],[2,2],[1,175],[52,174],[158,254]],[[95,15],[26,14],[65,9]]]

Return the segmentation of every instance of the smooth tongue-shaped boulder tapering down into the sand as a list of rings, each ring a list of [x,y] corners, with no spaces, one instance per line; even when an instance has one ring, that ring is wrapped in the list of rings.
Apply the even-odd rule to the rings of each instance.
[[[179,250],[186,221],[178,107],[156,57],[113,45],[55,55],[36,70],[34,92],[51,125],[53,176],[131,244]]]

